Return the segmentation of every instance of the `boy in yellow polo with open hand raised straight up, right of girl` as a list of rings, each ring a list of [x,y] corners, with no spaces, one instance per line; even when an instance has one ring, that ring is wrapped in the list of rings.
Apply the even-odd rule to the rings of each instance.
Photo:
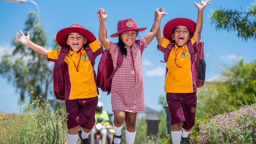
[[[203,9],[210,0],[194,3],[198,9],[197,23],[188,18],[174,18],[165,24],[163,36],[158,30],[158,50],[165,52],[175,44],[167,59],[165,77],[166,100],[172,116],[171,137],[173,144],[189,144],[189,133],[195,125],[197,106],[197,74],[188,44],[196,50],[199,46],[203,25]]]

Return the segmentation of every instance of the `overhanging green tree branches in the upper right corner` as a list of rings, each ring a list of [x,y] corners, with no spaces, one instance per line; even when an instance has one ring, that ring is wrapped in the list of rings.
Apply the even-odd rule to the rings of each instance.
[[[210,15],[217,30],[237,31],[237,36],[245,41],[256,40],[256,2],[247,11],[216,8]]]

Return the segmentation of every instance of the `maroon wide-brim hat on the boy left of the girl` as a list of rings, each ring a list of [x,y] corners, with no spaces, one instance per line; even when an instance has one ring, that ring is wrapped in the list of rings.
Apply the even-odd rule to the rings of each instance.
[[[56,35],[56,41],[60,46],[68,46],[67,44],[67,35],[69,33],[80,33],[87,39],[87,43],[93,42],[96,40],[96,37],[91,33],[91,31],[86,30],[83,26],[79,24],[72,24],[69,28],[63,28],[58,31]]]

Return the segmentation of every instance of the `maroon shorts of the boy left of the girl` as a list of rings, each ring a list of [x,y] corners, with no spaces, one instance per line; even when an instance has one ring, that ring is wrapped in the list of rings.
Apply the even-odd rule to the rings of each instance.
[[[98,96],[94,98],[66,100],[68,129],[81,126],[92,129],[95,124],[95,111],[98,104]]]

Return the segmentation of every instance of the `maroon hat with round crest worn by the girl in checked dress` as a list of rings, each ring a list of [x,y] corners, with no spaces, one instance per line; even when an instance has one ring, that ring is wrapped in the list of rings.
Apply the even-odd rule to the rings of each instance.
[[[137,24],[132,18],[119,20],[117,23],[117,33],[110,35],[110,37],[118,37],[120,33],[125,31],[145,31],[147,28],[138,28]]]

